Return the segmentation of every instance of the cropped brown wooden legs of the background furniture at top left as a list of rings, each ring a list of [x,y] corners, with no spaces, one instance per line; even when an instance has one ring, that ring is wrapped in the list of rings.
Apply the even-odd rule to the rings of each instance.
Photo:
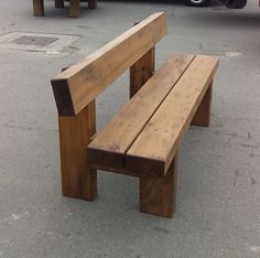
[[[54,0],[55,8],[64,8],[64,0]],[[79,17],[79,2],[80,0],[69,0],[69,17]],[[88,0],[88,9],[96,9],[97,0]],[[33,11],[35,17],[44,15],[44,0],[33,0]]]

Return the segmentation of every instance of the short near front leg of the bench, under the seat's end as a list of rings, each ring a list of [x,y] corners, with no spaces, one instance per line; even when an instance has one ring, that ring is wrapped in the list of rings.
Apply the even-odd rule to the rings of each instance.
[[[177,155],[164,178],[140,178],[140,212],[172,217],[176,204]]]

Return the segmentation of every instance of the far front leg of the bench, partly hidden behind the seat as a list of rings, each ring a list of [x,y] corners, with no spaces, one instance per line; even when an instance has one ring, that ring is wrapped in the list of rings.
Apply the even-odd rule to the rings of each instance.
[[[210,123],[213,83],[208,86],[206,94],[193,117],[192,125],[208,127]]]

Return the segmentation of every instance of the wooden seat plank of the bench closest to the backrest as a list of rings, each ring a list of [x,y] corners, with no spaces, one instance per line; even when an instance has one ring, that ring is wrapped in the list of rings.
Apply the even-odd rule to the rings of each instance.
[[[194,55],[173,55],[88,146],[94,165],[122,169],[124,154]]]

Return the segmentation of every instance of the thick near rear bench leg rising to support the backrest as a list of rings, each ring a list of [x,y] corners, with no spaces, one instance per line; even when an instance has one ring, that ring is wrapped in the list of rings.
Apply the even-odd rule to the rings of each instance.
[[[97,195],[97,171],[87,164],[86,147],[96,132],[95,100],[77,116],[59,117],[63,195],[93,201]]]

